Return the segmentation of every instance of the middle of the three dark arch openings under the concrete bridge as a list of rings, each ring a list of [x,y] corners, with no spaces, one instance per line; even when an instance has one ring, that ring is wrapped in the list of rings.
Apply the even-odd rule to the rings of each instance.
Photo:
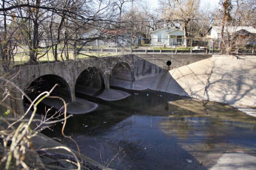
[[[96,67],[87,67],[81,71],[79,76],[76,78],[75,91],[94,95],[99,90],[104,90],[105,84],[104,74],[101,69]]]

